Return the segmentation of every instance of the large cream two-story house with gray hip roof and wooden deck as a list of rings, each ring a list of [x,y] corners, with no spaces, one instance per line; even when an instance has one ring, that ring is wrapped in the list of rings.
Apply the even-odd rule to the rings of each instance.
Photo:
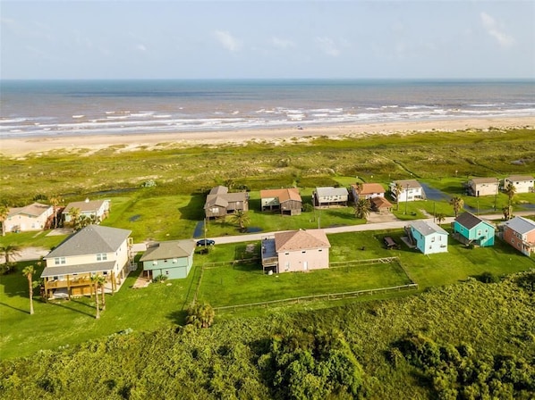
[[[89,225],[67,237],[44,257],[46,296],[90,295],[93,275],[105,277],[106,288],[115,292],[134,269],[131,232]]]

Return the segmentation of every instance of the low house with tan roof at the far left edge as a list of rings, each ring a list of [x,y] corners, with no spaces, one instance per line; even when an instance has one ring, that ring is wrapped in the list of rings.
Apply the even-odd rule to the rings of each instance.
[[[9,210],[5,221],[5,232],[26,232],[49,228],[54,218],[52,205],[32,203],[24,207],[13,207]]]

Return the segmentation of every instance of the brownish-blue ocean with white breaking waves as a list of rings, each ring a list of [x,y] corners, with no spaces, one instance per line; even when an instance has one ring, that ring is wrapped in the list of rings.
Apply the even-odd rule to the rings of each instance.
[[[2,137],[535,116],[535,80],[3,80]]]

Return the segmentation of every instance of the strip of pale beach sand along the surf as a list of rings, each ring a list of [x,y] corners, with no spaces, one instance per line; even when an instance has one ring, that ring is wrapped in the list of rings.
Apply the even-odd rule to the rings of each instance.
[[[139,148],[220,146],[247,142],[268,142],[284,144],[287,140],[307,140],[311,137],[359,137],[363,135],[411,134],[425,131],[447,131],[488,128],[512,129],[535,128],[535,117],[482,118],[445,121],[403,121],[369,123],[358,125],[335,125],[306,127],[304,129],[244,129],[210,132],[150,133],[143,135],[92,135],[62,137],[8,137],[0,139],[0,154],[21,156],[41,154],[52,150],[72,152],[80,149],[98,151],[109,146],[117,146],[121,151]]]

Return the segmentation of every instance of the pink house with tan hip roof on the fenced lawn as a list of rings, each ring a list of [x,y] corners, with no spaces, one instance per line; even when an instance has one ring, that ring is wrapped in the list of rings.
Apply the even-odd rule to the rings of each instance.
[[[330,246],[323,229],[277,232],[262,239],[262,266],[275,273],[328,268]]]

